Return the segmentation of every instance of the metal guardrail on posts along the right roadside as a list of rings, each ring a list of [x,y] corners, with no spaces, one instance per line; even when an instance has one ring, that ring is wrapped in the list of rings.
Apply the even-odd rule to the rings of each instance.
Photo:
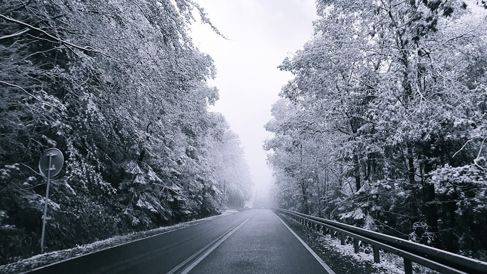
[[[403,257],[405,274],[412,274],[412,262],[445,274],[487,274],[487,262],[337,221],[322,219],[287,209],[276,209],[291,215],[303,225],[322,230],[323,235],[326,235],[327,231],[329,231],[332,238],[338,234],[342,245],[345,244],[346,236],[352,237],[354,239],[355,253],[359,251],[359,241],[372,245],[375,263],[380,262],[380,249]]]

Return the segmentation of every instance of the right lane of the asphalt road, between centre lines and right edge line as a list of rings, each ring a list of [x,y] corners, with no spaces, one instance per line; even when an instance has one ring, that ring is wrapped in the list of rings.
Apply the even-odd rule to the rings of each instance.
[[[258,210],[189,273],[327,272],[271,210]]]

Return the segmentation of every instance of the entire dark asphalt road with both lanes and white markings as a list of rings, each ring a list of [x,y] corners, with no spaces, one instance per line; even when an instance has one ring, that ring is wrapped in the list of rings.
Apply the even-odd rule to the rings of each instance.
[[[329,273],[268,209],[204,221],[31,273]]]

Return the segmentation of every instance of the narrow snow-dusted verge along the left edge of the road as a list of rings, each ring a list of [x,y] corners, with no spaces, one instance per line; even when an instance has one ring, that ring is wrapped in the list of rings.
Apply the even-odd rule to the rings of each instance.
[[[76,246],[74,248],[70,249],[64,249],[64,250],[58,250],[54,252],[49,252],[49,253],[44,253],[44,254],[38,254],[36,256],[32,256],[30,258],[22,259],[19,260],[18,262],[15,263],[10,263],[6,265],[0,266],[0,273],[25,273],[29,270],[33,270],[35,268],[49,265],[49,264],[54,264],[56,262],[62,261],[62,260],[67,260],[67,259],[72,259],[75,257],[80,257],[83,255],[87,255],[90,253],[94,253],[97,251],[109,249],[114,246],[122,245],[128,242],[136,241],[142,238],[146,237],[151,237],[155,236],[161,233],[166,233],[169,231],[181,229],[188,227],[193,224],[201,223],[204,221],[208,221],[211,219],[219,218],[225,215],[230,215],[230,214],[235,214],[238,211],[235,209],[230,209],[230,210],[225,210],[222,212],[220,215],[216,216],[210,216],[206,217],[203,219],[194,219],[191,221],[187,222],[182,222],[178,223],[175,225],[171,226],[164,226],[164,227],[159,227],[155,228],[152,230],[148,231],[141,231],[141,232],[133,232],[127,235],[122,235],[122,236],[115,236],[111,237],[108,239],[96,241],[90,244],[84,244],[80,246]]]

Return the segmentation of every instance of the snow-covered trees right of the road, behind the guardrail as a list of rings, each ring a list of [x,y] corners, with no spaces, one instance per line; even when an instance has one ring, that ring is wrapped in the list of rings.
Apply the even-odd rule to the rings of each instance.
[[[317,13],[265,125],[276,205],[487,260],[486,2]]]

